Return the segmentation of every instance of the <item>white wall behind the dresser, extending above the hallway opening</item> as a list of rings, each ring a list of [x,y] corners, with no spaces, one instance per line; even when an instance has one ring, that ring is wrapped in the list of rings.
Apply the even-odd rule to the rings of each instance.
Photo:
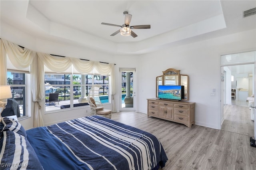
[[[139,62],[145,63],[138,68],[140,112],[146,113],[146,99],[155,97],[155,77],[168,68],[175,68],[189,75],[189,98],[196,103],[196,125],[220,129],[220,55],[255,49],[256,39],[252,35],[256,35],[256,30],[166,48],[140,57]],[[215,97],[210,96],[212,89],[216,89]]]

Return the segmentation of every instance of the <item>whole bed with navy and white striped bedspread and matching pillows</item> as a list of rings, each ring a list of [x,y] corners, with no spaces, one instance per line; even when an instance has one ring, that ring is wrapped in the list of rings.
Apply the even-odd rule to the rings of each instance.
[[[26,131],[4,118],[0,127],[3,170],[157,170],[168,160],[154,135],[99,116]]]

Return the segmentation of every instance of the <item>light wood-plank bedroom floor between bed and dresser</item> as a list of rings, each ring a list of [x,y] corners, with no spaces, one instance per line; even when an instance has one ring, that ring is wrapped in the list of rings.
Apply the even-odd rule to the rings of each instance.
[[[168,156],[163,170],[256,170],[256,148],[247,135],[198,125],[188,128],[144,113],[112,113],[112,119],[154,134]]]

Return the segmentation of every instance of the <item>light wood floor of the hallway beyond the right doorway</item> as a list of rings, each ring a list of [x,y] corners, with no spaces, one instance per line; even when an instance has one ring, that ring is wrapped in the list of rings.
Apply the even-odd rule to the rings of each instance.
[[[222,130],[254,136],[254,121],[248,106],[226,105]]]

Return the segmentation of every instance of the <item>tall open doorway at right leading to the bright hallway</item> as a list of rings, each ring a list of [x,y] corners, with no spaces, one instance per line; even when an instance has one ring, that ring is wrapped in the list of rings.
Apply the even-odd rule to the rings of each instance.
[[[254,121],[251,119],[247,97],[254,94],[255,53],[224,55],[221,67],[226,75],[225,83],[222,83],[221,129],[250,137],[254,136]]]

